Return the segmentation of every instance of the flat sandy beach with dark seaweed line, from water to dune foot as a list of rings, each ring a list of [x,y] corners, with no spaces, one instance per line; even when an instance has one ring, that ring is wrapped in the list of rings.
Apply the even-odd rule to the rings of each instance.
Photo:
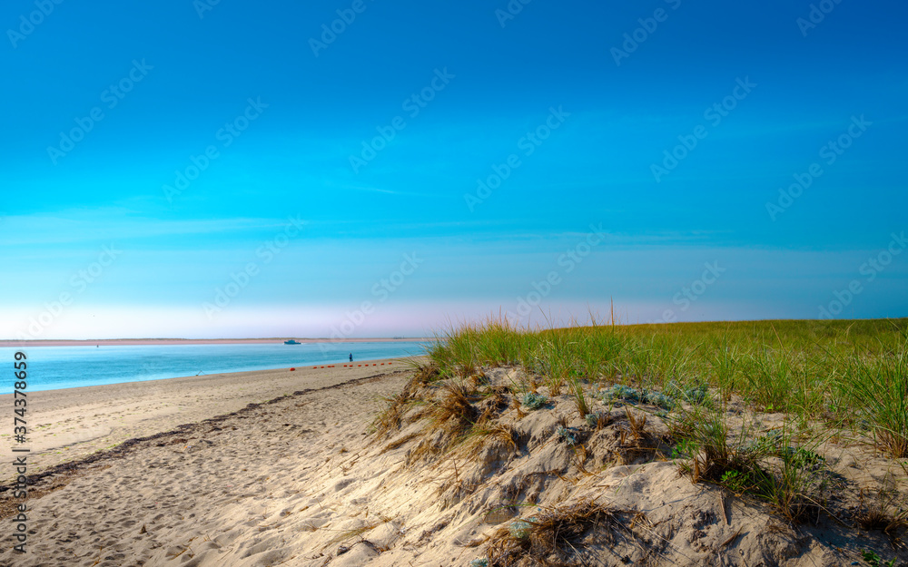
[[[35,433],[28,444],[32,452],[26,500],[35,545],[26,545],[25,554],[5,545],[0,565],[163,564],[173,559],[166,550],[163,555],[133,550],[128,536],[135,532],[129,529],[134,523],[142,520],[151,533],[155,523],[175,511],[169,510],[173,506],[187,509],[178,503],[188,503],[186,495],[198,490],[220,507],[225,494],[262,494],[269,478],[271,483],[288,480],[266,470],[281,459],[321,450],[326,435],[349,431],[350,425],[361,432],[379,396],[400,387],[405,367],[400,361],[374,360],[348,367],[293,372],[285,368],[35,392],[29,396]],[[0,405],[12,407],[12,398],[0,396]],[[262,403],[267,405],[259,406]],[[298,415],[288,415],[294,413]],[[313,435],[320,442],[309,445]],[[331,445],[342,442],[341,435],[331,435]],[[271,448],[257,449],[262,443]],[[278,447],[280,455],[272,452]],[[234,456],[240,461],[233,461]],[[14,506],[21,502],[12,498],[15,479],[6,474],[11,470],[5,470],[0,487],[4,518],[15,515]],[[246,477],[254,479],[254,488],[242,480]],[[98,503],[104,503],[104,510]],[[147,515],[149,511],[156,512]],[[235,514],[232,508],[222,511]],[[242,517],[243,523],[248,520]],[[143,547],[147,551],[159,544]]]

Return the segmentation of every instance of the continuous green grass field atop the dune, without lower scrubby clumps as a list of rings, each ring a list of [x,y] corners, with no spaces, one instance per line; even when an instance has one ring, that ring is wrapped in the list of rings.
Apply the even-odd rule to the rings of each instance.
[[[452,326],[428,346],[441,376],[517,365],[586,411],[580,380],[678,390],[805,423],[849,425],[885,455],[908,456],[908,318],[518,329],[502,318]]]

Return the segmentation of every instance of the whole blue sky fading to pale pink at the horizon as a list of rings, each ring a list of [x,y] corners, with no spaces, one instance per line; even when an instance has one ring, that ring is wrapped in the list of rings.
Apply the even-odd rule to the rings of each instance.
[[[298,4],[0,9],[0,338],[908,316],[903,3]]]

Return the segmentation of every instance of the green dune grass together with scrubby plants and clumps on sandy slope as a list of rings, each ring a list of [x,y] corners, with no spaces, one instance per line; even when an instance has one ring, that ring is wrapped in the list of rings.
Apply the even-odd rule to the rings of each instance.
[[[600,429],[608,416],[591,414],[587,396],[602,397],[609,413],[613,403],[655,405],[671,431],[682,474],[749,494],[790,523],[814,522],[825,509],[824,458],[814,448],[831,436],[850,431],[849,437],[883,455],[908,457],[904,318],[538,329],[490,318],[450,327],[427,351],[423,372],[453,384],[481,375],[482,367],[517,366],[526,376],[512,388],[518,409],[547,406],[549,398],[537,392],[546,386],[553,398],[567,394],[591,428]],[[466,415],[468,390],[446,387],[448,396],[431,410],[436,425],[461,432],[483,421]],[[734,427],[728,421],[733,399],[749,408],[743,425]],[[781,429],[760,435],[763,414],[773,414],[770,421]],[[627,416],[631,425],[637,422],[629,411]],[[637,437],[645,425],[640,419]],[[561,429],[568,439],[569,430]],[[510,434],[490,426],[476,433],[505,440]],[[903,515],[869,507],[864,515],[864,523],[890,531],[905,523]]]

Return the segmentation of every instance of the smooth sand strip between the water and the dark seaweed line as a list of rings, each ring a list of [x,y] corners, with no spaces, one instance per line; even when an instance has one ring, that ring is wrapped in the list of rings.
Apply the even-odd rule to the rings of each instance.
[[[92,455],[137,437],[198,423],[303,389],[320,389],[402,368],[390,360],[357,361],[165,380],[84,386],[28,394],[30,472]],[[13,406],[13,395],[0,396]],[[10,433],[0,434],[7,440]],[[9,479],[4,471],[0,479]]]

